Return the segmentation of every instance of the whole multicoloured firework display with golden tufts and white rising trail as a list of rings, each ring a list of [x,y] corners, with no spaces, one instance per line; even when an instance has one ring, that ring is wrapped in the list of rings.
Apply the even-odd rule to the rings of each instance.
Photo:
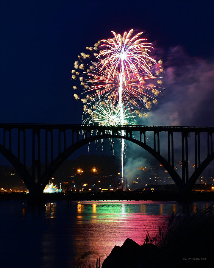
[[[114,37],[108,40],[101,40],[95,43],[93,47],[86,47],[90,52],[95,52],[95,60],[91,60],[89,54],[81,53],[78,56],[79,61],[75,61],[72,70],[72,80],[80,80],[84,91],[81,94],[87,94],[81,101],[84,103],[85,116],[89,115],[88,123],[103,124],[104,121],[111,124],[111,112],[118,107],[120,111],[120,124],[130,124],[130,114],[132,122],[135,121],[133,113],[139,117],[147,116],[144,109],[151,109],[153,104],[157,104],[156,96],[163,88],[160,87],[162,81],[157,80],[158,85],[154,85],[155,78],[163,72],[162,61],[158,62],[149,56],[151,43],[145,42],[147,39],[139,38],[142,32],[132,37],[133,30],[124,35],[112,32]],[[97,53],[99,51],[99,54]],[[88,63],[85,63],[88,60]],[[79,71],[76,71],[79,69]],[[149,81],[151,81],[149,83]],[[78,87],[73,86],[76,90]],[[80,99],[78,94],[74,94],[76,100]],[[93,103],[99,103],[93,105]],[[90,105],[90,107],[88,107]],[[103,110],[100,109],[100,105]],[[110,113],[105,113],[113,107]],[[93,112],[93,109],[95,111]],[[99,116],[96,115],[98,110]],[[110,115],[110,116],[109,116]],[[103,117],[106,116],[106,120]],[[118,120],[118,116],[117,116]],[[114,124],[114,123],[113,123]],[[118,121],[117,121],[118,124]],[[131,123],[133,124],[133,123]],[[124,130],[121,131],[124,136]],[[124,158],[124,139],[121,139],[121,168],[123,185],[123,158]],[[127,185],[126,185],[127,187]]]

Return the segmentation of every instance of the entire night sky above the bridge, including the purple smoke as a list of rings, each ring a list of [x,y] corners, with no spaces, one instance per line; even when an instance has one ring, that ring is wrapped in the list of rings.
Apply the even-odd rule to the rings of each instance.
[[[0,121],[81,124],[70,71],[111,31],[143,31],[164,95],[138,124],[214,126],[213,1],[1,1]]]

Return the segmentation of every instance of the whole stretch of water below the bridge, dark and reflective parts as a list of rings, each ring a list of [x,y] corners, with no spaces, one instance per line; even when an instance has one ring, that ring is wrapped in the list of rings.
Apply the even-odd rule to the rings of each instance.
[[[109,255],[126,238],[143,244],[148,231],[173,212],[207,208],[211,202],[97,201],[47,202],[30,207],[25,202],[0,203],[1,267],[75,267]]]

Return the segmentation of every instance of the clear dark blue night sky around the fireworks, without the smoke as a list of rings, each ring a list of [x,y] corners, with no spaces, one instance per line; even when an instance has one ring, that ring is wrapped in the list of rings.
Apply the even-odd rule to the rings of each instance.
[[[132,28],[163,60],[176,46],[213,60],[213,1],[1,1],[0,121],[81,124],[74,61],[112,30]]]

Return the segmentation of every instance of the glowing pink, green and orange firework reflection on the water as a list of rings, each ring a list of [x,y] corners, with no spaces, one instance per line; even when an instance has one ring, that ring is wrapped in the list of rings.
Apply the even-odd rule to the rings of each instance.
[[[76,219],[75,247],[79,249],[78,256],[88,252],[88,260],[94,261],[110,254],[115,245],[121,246],[127,238],[138,244],[143,244],[146,233],[156,236],[159,226],[162,226],[169,214],[164,214],[163,204],[156,204],[157,214],[152,214],[149,203],[115,202],[114,207],[107,202],[84,203],[84,209],[79,209],[78,216],[84,211],[82,219]],[[154,205],[154,202],[152,202]],[[137,206],[136,206],[137,205]],[[175,211],[172,205],[172,211]],[[87,213],[88,211],[88,213]],[[171,212],[172,212],[171,211]]]

